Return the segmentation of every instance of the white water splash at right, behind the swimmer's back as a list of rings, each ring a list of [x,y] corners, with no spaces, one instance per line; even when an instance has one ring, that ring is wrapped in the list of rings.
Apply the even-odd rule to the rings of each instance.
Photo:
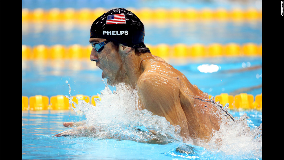
[[[211,99],[213,103],[214,98]],[[200,146],[210,150],[224,152],[227,157],[234,159],[254,159],[262,158],[262,123],[260,126],[251,129],[247,126],[247,119],[250,117],[244,113],[239,119],[227,111],[228,104],[223,108],[222,104],[217,104],[223,114],[223,121],[219,131],[214,131],[214,135],[209,143],[201,143]]]

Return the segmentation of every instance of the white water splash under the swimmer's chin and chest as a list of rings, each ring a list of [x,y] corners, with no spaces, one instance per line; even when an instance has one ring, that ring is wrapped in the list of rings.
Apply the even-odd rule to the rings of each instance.
[[[179,126],[171,125],[165,117],[153,115],[148,110],[137,109],[139,100],[136,90],[121,83],[112,92],[106,85],[99,96],[101,100],[94,99],[96,106],[78,99],[78,104],[72,108],[85,115],[85,127],[92,130],[88,131],[88,136],[163,144],[182,141]],[[80,134],[86,132],[83,130]]]

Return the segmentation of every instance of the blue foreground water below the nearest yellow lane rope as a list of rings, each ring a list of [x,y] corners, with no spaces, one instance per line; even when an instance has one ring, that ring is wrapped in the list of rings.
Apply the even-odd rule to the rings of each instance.
[[[231,112],[240,117],[244,112]],[[262,123],[262,112],[247,111],[248,126]],[[232,154],[174,142],[166,145],[138,143],[130,140],[92,137],[53,137],[64,130],[65,121],[84,120],[73,111],[23,111],[23,159],[255,159],[247,153]],[[187,146],[186,146],[187,145]],[[180,153],[179,148],[193,149],[195,154]],[[231,152],[234,150],[232,149]],[[247,156],[247,157],[246,157]],[[253,158],[252,158],[253,157]],[[261,157],[257,157],[262,159]]]

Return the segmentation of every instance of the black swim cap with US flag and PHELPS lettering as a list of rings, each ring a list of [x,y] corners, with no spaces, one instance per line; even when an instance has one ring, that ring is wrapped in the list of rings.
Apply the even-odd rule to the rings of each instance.
[[[145,30],[140,19],[124,8],[110,10],[97,18],[90,31],[90,38],[104,38],[128,47],[144,48]]]

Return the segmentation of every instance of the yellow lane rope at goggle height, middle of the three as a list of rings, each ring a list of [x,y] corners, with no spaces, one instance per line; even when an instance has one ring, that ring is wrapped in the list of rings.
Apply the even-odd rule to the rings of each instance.
[[[243,45],[237,43],[219,44],[212,43],[210,45],[203,44],[145,44],[153,55],[161,58],[176,57],[240,57],[253,56],[262,57],[262,43],[245,43]],[[92,46],[82,46],[78,44],[64,46],[64,45],[37,45],[27,46],[22,45],[22,59],[86,59],[90,58]]]

